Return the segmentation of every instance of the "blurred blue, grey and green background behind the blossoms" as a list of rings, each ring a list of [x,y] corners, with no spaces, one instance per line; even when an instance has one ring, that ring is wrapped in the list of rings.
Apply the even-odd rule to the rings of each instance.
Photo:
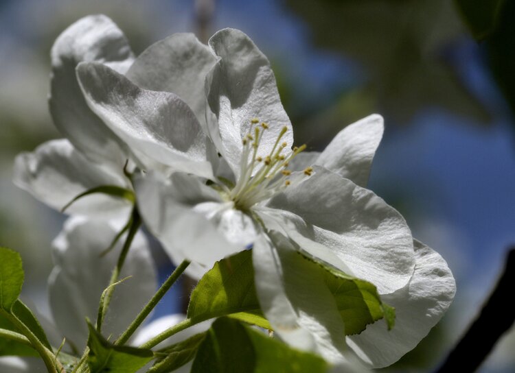
[[[174,32],[205,40],[236,27],[271,60],[297,144],[323,149],[345,125],[372,112],[385,117],[369,188],[457,279],[442,323],[389,368],[431,371],[479,311],[515,243],[515,2],[468,3],[0,0],[0,244],[23,256],[25,296],[48,312],[50,243],[65,219],[11,181],[16,154],[59,137],[47,110],[56,36],[81,16],[104,13],[138,54]],[[179,303],[168,298],[159,313]],[[480,371],[514,372],[514,350],[512,327]]]

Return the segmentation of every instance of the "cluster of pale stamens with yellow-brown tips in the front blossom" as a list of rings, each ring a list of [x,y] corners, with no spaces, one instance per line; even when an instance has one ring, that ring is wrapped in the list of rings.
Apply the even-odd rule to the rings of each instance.
[[[229,192],[229,199],[241,210],[248,210],[258,202],[284,191],[289,185],[298,184],[313,171],[311,167],[302,173],[292,173],[287,169],[290,161],[306,149],[306,145],[286,149],[288,144],[281,142],[288,131],[286,126],[279,132],[270,153],[264,158],[258,156],[260,141],[268,125],[264,122],[259,124],[258,119],[252,119],[251,124],[249,133],[242,139],[240,178]]]

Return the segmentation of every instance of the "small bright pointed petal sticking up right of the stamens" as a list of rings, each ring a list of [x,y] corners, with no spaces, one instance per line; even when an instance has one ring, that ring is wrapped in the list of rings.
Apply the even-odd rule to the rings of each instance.
[[[325,147],[314,165],[323,166],[359,186],[367,186],[372,160],[384,130],[383,119],[377,114],[347,125]]]

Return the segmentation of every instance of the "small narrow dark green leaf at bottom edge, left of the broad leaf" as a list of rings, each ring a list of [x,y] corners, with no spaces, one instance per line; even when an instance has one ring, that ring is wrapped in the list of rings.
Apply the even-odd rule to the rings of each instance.
[[[195,357],[198,347],[205,339],[205,335],[206,333],[198,333],[185,341],[159,350],[159,357],[154,366],[148,370],[148,373],[166,373],[181,368]]]

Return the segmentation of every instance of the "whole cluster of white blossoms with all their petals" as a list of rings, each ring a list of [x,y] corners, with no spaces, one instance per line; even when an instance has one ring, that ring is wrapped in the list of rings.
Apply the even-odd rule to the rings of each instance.
[[[174,263],[192,262],[194,278],[252,248],[262,312],[294,348],[382,368],[413,349],[453,300],[444,259],[366,189],[382,117],[348,125],[323,152],[293,147],[270,63],[236,29],[216,32],[208,45],[174,34],[135,57],[113,21],[87,16],[52,48],[49,106],[63,139],[16,158],[18,186],[56,209],[98,186],[133,191],[145,226]],[[132,208],[95,193],[67,209],[50,304],[79,350],[84,316],[94,317],[115,261],[99,253]],[[147,246],[138,234],[124,268],[137,287],[117,293],[110,312],[124,317],[108,320],[106,333],[121,332],[156,287]],[[304,258],[374,284],[395,308],[393,329],[375,322],[346,335],[345,317],[324,282],[304,272]],[[149,327],[163,323],[141,335],[160,331]]]

